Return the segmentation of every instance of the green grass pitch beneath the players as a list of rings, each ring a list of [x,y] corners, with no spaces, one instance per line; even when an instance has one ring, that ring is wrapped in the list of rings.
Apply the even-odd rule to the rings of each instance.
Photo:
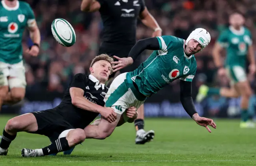
[[[10,117],[0,117],[0,129]],[[255,166],[256,129],[240,129],[238,120],[216,119],[212,133],[191,119],[146,119],[154,141],[135,145],[134,125],[116,128],[105,140],[88,139],[72,155],[22,158],[22,148],[42,148],[47,137],[18,133],[0,166]]]

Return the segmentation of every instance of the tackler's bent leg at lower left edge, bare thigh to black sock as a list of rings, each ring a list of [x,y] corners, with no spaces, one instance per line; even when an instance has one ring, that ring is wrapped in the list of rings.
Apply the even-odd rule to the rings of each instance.
[[[34,132],[38,130],[36,117],[32,113],[26,113],[10,119],[4,127],[0,142],[0,155],[6,155],[10,143],[15,139],[17,132]]]

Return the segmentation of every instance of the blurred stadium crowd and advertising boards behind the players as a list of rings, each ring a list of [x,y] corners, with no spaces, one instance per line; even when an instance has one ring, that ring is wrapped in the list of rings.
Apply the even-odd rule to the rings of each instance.
[[[80,11],[81,0],[26,0],[34,10],[41,33],[41,49],[38,57],[24,53],[26,64],[26,97],[12,107],[4,105],[1,113],[23,114],[40,111],[58,105],[72,76],[78,72],[88,73],[90,61],[96,56],[100,45],[102,22],[99,12]],[[212,47],[220,31],[228,26],[228,15],[241,12],[246,17],[246,26],[256,39],[256,4],[254,0],[145,0],[150,13],[163,29],[163,35],[174,35],[186,39],[196,27],[203,27],[211,34],[211,43],[196,55],[197,72],[193,81],[193,96],[198,87],[206,83],[211,86],[228,86],[227,78],[216,76],[212,61]],[[76,44],[72,47],[59,45],[51,33],[55,18],[68,20],[76,31]],[[140,21],[137,39],[150,37],[152,30]],[[256,49],[254,42],[254,49]],[[28,31],[24,33],[24,50],[32,45]],[[142,53],[144,61],[150,51]],[[224,55],[224,54],[223,54]],[[249,78],[255,89],[255,77]],[[145,103],[146,117],[188,117],[179,102],[179,80],[154,94]],[[256,98],[253,97],[252,100]],[[196,104],[200,115],[211,117],[240,117],[240,99],[213,96],[202,104]],[[254,115],[254,104],[250,105]]]

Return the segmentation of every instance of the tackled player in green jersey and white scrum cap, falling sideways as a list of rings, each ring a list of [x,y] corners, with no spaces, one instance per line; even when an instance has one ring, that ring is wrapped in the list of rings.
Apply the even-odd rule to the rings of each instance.
[[[196,112],[192,97],[192,79],[196,73],[195,53],[210,43],[210,34],[203,28],[192,31],[187,40],[174,36],[152,37],[140,40],[131,49],[127,58],[119,58],[113,68],[120,70],[130,64],[145,49],[154,50],[150,57],[133,72],[117,76],[105,96],[106,107],[111,107],[117,119],[109,123],[106,119],[98,120],[97,125],[88,125],[84,131],[86,138],[105,139],[110,136],[120,118],[132,122],[124,112],[129,107],[140,107],[147,97],[156,93],[170,82],[180,79],[180,101],[185,111],[198,123],[211,132],[208,125],[216,128],[212,119],[200,117]],[[172,94],[170,94],[172,95]],[[151,137],[149,133],[144,133]],[[145,136],[142,136],[145,138]]]

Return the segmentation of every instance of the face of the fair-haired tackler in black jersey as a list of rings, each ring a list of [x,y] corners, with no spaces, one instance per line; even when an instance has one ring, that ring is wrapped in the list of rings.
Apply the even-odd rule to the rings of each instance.
[[[108,61],[100,60],[93,64],[90,68],[90,72],[100,82],[106,82],[111,72],[111,64]]]

